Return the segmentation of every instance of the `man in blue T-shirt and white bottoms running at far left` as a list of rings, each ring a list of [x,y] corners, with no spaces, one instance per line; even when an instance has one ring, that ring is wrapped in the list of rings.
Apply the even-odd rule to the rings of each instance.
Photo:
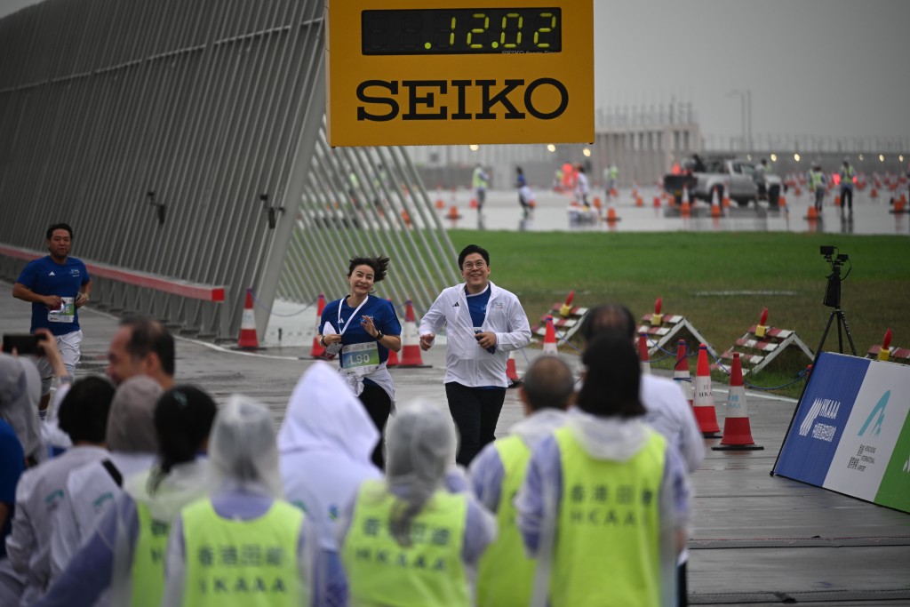
[[[34,333],[35,329],[48,329],[54,335],[66,371],[72,378],[79,364],[79,345],[82,343],[77,310],[88,302],[92,279],[86,264],[69,257],[73,228],[65,223],[54,224],[47,228],[46,238],[49,255],[28,262],[16,278],[13,297],[32,304],[30,330]],[[42,397],[38,410],[44,418],[54,369],[44,357],[38,357],[35,362],[41,372]]]

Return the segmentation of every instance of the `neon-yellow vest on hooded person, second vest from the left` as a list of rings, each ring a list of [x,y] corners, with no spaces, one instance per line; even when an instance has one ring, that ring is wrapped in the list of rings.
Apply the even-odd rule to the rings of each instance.
[[[297,607],[308,604],[298,564],[303,512],[274,501],[251,521],[217,515],[211,500],[181,512],[187,549],[183,604],[192,607]]]

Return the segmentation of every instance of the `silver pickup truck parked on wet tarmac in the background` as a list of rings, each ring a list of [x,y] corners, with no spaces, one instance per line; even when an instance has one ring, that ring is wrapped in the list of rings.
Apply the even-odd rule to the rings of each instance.
[[[680,174],[664,176],[663,189],[679,203],[682,201],[682,188],[687,187],[690,200],[693,202],[696,199],[704,200],[710,204],[714,192],[717,192],[718,200],[723,199],[723,188],[726,187],[727,195],[740,207],[746,207],[753,200],[755,206],[758,206],[758,187],[753,181],[755,165],[752,162],[708,158],[703,160],[703,165],[704,171],[696,171],[689,167]],[[781,188],[784,187],[781,177],[766,173],[764,181],[767,187],[768,206],[776,208]]]

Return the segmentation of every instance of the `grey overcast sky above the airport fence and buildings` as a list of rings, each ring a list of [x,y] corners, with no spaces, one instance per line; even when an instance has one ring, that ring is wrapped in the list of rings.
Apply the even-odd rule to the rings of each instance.
[[[910,137],[910,0],[594,0],[594,40],[599,107],[675,97],[738,136],[739,89],[756,136]]]

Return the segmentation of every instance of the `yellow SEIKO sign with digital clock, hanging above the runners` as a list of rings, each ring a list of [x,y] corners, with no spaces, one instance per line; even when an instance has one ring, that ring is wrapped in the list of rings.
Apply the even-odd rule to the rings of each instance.
[[[589,143],[590,1],[331,0],[331,146]]]

